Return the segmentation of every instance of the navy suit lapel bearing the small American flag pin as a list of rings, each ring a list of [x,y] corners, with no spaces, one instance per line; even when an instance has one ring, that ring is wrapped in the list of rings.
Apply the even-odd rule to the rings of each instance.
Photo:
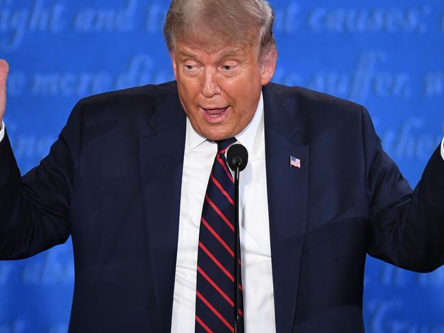
[[[276,332],[291,332],[298,298],[300,261],[306,227],[309,147],[301,143],[303,126],[295,100],[263,88],[267,197]],[[301,168],[290,168],[290,156]]]

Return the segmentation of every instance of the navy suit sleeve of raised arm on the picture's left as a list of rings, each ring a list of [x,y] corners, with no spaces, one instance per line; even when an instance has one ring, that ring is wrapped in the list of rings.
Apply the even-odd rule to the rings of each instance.
[[[68,239],[79,133],[81,102],[73,109],[49,155],[23,178],[5,134],[0,142],[0,259],[27,258]]]

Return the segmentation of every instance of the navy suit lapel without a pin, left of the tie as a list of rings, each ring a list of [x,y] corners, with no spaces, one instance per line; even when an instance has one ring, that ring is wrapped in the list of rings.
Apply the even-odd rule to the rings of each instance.
[[[159,98],[160,99],[160,98]],[[177,90],[163,96],[155,106],[150,128],[139,138],[140,175],[144,195],[148,232],[147,281],[155,295],[148,295],[150,314],[156,332],[169,332],[174,293],[174,272],[179,235],[179,214],[183,154],[185,147],[185,113]],[[154,297],[153,297],[154,296]],[[151,299],[156,300],[152,304]],[[157,327],[159,326],[159,327]]]

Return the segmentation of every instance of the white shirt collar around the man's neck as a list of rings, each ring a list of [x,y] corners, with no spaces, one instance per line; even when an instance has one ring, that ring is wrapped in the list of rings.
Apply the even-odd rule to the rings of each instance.
[[[256,112],[254,112],[254,116],[250,123],[246,126],[246,128],[241,131],[241,133],[237,134],[235,137],[237,141],[245,146],[248,152],[252,152],[254,148],[254,140],[257,137],[258,130],[260,129],[260,125],[263,119],[263,96],[261,92],[261,98],[259,98],[259,103],[257,105]],[[197,133],[193,126],[191,125],[190,119],[187,118],[187,147],[185,150],[193,150],[197,148],[203,142],[207,141],[205,137]]]

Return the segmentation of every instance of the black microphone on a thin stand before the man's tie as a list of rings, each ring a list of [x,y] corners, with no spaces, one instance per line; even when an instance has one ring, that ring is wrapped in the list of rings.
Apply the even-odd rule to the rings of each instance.
[[[234,329],[235,333],[239,332],[239,173],[244,170],[248,163],[248,151],[241,144],[233,144],[226,152],[226,161],[231,170],[235,172],[235,232],[234,232],[234,269],[235,269],[235,285],[234,285]]]

